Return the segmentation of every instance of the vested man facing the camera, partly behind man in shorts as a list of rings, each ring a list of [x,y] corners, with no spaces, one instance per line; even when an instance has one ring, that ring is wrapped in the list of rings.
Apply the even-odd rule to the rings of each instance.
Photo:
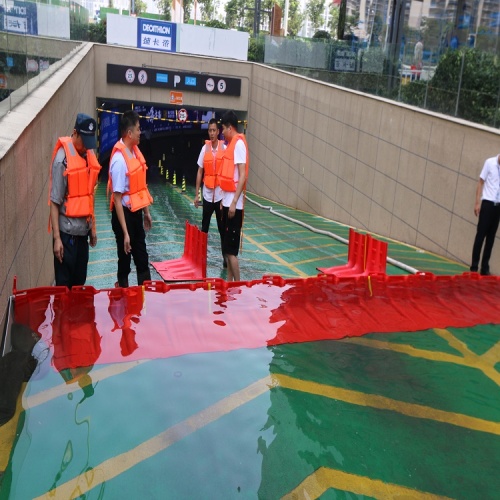
[[[201,148],[200,156],[198,157],[198,174],[196,176],[196,191],[194,197],[194,206],[198,208],[200,202],[198,193],[200,192],[201,179],[203,179],[203,217],[201,219],[201,230],[208,233],[210,227],[210,219],[215,212],[217,219],[217,229],[220,234],[221,249],[224,242],[224,227],[222,226],[222,190],[217,185],[217,172],[221,168],[222,153],[226,146],[222,141],[219,141],[219,126],[217,120],[212,118],[208,122],[208,137],[209,141]],[[226,267],[224,259],[224,267]]]

